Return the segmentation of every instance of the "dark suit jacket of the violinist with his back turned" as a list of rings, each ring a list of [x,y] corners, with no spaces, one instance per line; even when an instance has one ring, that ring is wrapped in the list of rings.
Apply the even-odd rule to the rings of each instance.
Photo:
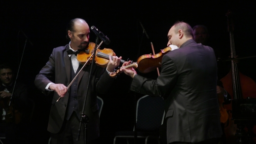
[[[157,80],[135,75],[131,90],[165,99],[167,143],[219,138],[217,64],[209,46],[187,40],[162,58]]]

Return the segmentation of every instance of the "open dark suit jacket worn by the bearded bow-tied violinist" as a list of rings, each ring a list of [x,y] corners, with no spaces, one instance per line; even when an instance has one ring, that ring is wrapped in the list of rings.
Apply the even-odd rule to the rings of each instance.
[[[45,90],[49,82],[62,83],[66,86],[70,84],[71,79],[71,59],[66,50],[69,49],[69,44],[54,48],[49,61],[37,74],[35,85],[43,93],[48,93]],[[82,113],[84,99],[86,97],[87,84],[89,80],[90,66],[86,66],[78,75],[78,105],[79,113]],[[89,86],[88,96],[84,114],[89,117],[88,123],[88,140],[96,139],[99,137],[99,115],[97,105],[97,93],[106,93],[110,88],[113,78],[104,68],[98,67],[94,64],[92,68],[91,84]],[[58,133],[62,127],[63,121],[66,118],[65,113],[68,108],[69,90],[65,97],[61,98],[58,102],[59,95],[54,92],[52,107],[50,110],[48,131],[51,133]]]

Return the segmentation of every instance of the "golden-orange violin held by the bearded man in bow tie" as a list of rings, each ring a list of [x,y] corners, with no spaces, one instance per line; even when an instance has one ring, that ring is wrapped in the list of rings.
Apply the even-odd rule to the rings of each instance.
[[[81,64],[85,64],[88,60],[88,64],[92,63],[93,57],[91,55],[94,52],[94,47],[95,43],[94,42],[89,42],[87,48],[84,51],[80,51],[76,59],[79,61]],[[108,63],[110,62],[109,56],[111,56],[111,59],[113,59],[113,56],[115,56],[115,53],[113,52],[112,49],[110,48],[104,48],[104,49],[97,49],[96,50],[96,57],[94,58],[95,63],[102,67],[106,68],[108,66]],[[121,63],[124,63],[124,60],[120,61]]]

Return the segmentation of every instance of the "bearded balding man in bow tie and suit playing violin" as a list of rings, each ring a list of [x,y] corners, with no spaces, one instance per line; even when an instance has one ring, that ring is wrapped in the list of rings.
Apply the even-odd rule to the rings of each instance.
[[[99,137],[97,94],[104,94],[110,89],[114,78],[109,73],[119,66],[121,57],[110,58],[107,71],[96,64],[93,67],[85,66],[74,79],[83,65],[77,61],[73,52],[87,48],[89,34],[89,26],[83,19],[71,20],[67,26],[70,43],[54,48],[49,61],[36,76],[35,85],[40,91],[45,94],[54,91],[48,122],[52,144],[84,144],[84,124],[81,126],[79,141],[75,140],[85,98],[83,113],[89,117],[86,144],[95,144],[95,139]],[[90,69],[91,81],[86,96]],[[73,84],[67,89],[73,79]],[[61,99],[56,102],[59,97]]]

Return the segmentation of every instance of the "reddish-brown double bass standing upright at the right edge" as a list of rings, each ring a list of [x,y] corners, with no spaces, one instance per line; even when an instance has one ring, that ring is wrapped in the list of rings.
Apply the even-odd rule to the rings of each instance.
[[[231,58],[235,58],[235,43],[234,43],[234,26],[231,19],[231,12],[226,13],[228,18],[228,31],[230,36],[230,50]],[[247,97],[256,98],[256,82],[250,77],[239,72],[237,63],[234,60],[231,61],[230,72],[220,79],[223,83],[225,90],[231,95],[231,99],[239,100],[246,99]],[[237,124],[232,120],[232,101],[229,105],[224,105],[228,112],[228,120],[225,122],[225,136],[227,144],[233,144],[236,140]],[[256,129],[256,128],[255,128]]]

